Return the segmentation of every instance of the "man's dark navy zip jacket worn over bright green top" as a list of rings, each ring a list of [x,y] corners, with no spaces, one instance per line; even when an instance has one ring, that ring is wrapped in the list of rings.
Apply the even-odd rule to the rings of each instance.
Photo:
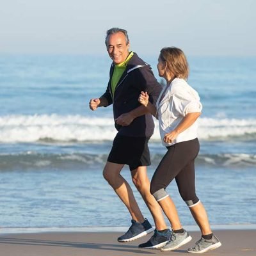
[[[114,68],[115,65],[112,63],[108,87],[101,96],[108,100],[108,106],[113,104],[114,119],[141,106],[140,102],[138,102],[141,91],[147,92],[150,102],[156,104],[161,92],[161,85],[157,82],[156,77],[154,77],[150,65],[141,60],[135,52],[116,85],[115,97],[113,97],[111,90],[111,77]],[[151,114],[146,114],[135,118],[128,126],[115,124],[115,127],[118,135],[150,137],[154,132],[154,121]]]

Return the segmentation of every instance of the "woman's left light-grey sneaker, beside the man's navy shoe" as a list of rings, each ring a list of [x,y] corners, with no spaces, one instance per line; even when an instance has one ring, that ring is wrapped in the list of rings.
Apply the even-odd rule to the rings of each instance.
[[[189,236],[188,232],[184,230],[183,233],[174,233],[172,232],[172,236],[170,238],[170,241],[161,248],[162,252],[168,252],[173,251],[179,248],[180,246],[188,243],[191,241],[192,237]]]

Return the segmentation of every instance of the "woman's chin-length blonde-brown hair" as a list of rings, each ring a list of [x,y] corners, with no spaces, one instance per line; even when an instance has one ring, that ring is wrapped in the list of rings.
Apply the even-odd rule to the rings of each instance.
[[[176,78],[188,79],[189,65],[182,50],[177,47],[164,47],[160,51],[161,61],[166,61],[168,71]]]

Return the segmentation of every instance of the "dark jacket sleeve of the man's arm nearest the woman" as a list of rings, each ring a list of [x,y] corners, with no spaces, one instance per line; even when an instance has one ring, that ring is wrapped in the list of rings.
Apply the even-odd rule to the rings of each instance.
[[[138,79],[136,78],[136,86],[143,92],[147,92],[149,95],[149,101],[156,105],[159,94],[161,93],[161,85],[157,82],[156,77],[150,67],[145,66],[136,70]]]

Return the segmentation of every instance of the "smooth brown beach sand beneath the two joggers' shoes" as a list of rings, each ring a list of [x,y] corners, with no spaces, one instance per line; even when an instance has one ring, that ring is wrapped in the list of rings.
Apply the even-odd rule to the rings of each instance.
[[[139,249],[138,244],[150,235],[131,243],[118,243],[120,232],[47,232],[36,234],[1,234],[1,256],[135,256],[193,255],[186,249],[200,238],[199,232],[189,232],[192,241],[173,252]],[[204,255],[256,255],[256,230],[216,230],[222,246]]]

